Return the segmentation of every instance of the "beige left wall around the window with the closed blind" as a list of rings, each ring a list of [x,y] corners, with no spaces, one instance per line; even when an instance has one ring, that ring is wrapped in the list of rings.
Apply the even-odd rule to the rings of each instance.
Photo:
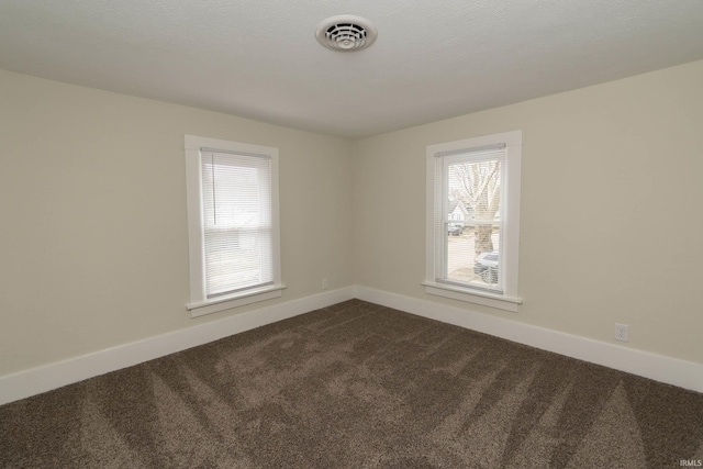
[[[280,149],[282,298],[190,319],[185,134]],[[347,141],[0,71],[0,376],[353,283]]]

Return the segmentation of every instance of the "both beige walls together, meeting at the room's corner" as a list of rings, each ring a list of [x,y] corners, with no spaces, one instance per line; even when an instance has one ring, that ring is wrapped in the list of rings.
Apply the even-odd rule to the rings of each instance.
[[[703,62],[349,143],[0,71],[0,376],[323,277],[604,342],[622,322],[703,362],[701,82]],[[517,129],[524,305],[426,295],[426,145]],[[183,134],[280,148],[281,299],[190,319]]]

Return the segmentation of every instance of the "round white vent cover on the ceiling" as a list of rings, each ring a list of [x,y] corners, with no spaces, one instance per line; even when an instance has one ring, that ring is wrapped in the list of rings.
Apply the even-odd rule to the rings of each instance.
[[[377,36],[376,26],[369,20],[352,14],[327,18],[315,31],[320,44],[337,52],[365,49],[373,44]]]

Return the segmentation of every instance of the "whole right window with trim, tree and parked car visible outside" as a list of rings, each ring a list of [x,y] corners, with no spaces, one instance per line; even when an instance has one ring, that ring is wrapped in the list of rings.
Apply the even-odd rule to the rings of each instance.
[[[427,293],[517,311],[521,150],[522,131],[427,146]]]

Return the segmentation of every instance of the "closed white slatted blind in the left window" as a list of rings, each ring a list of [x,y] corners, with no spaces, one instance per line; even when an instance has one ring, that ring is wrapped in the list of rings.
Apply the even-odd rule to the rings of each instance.
[[[208,299],[274,283],[271,160],[201,148]]]

